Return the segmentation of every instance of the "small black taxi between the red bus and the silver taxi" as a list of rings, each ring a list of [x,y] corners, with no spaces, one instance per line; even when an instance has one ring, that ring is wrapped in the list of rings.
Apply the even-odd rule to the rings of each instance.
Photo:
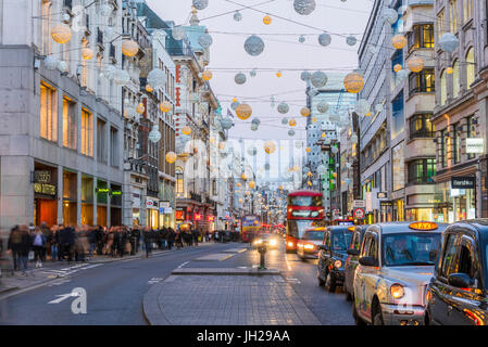
[[[343,283],[345,262],[351,239],[352,231],[348,226],[325,229],[324,240],[318,246],[317,280],[318,285],[325,285],[330,293]]]

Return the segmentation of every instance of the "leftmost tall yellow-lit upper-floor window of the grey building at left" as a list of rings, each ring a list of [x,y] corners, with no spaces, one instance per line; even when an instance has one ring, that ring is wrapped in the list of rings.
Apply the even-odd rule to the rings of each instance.
[[[58,141],[58,103],[55,89],[46,83],[40,85],[40,137]]]

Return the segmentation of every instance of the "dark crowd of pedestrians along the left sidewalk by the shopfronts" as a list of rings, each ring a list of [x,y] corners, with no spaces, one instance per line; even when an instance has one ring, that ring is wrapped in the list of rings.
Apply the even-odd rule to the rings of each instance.
[[[173,228],[153,230],[149,227],[101,227],[101,226],[15,226],[11,229],[7,252],[12,256],[13,270],[26,274],[28,260],[35,268],[50,261],[85,261],[95,255],[123,257],[136,255],[142,247],[146,256],[152,249],[180,249],[198,246],[199,241],[209,241],[209,232],[197,229],[185,231]]]

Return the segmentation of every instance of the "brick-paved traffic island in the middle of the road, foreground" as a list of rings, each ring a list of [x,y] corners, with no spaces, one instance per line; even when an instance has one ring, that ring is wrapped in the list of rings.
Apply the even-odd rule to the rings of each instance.
[[[150,287],[143,312],[152,325],[318,325],[281,275],[170,275]]]

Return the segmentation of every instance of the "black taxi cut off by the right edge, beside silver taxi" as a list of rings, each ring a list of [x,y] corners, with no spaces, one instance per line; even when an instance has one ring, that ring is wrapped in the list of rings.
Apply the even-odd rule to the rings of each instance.
[[[488,324],[488,219],[446,229],[426,301],[426,324]]]

